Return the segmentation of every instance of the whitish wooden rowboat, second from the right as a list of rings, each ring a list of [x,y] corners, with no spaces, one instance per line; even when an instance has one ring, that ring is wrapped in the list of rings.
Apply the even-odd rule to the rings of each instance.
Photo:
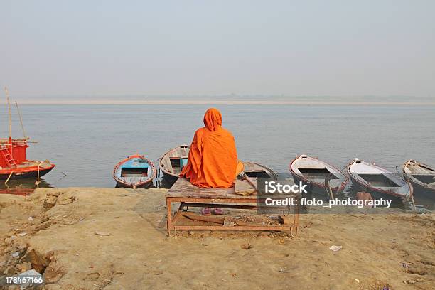
[[[353,183],[373,198],[384,198],[399,203],[412,197],[411,183],[385,168],[355,159],[348,166]]]

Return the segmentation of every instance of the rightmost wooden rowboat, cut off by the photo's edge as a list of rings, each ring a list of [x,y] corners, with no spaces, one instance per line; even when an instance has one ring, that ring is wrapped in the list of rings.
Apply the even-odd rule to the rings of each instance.
[[[435,198],[435,168],[414,160],[406,161],[402,173],[407,181],[412,183],[415,193]]]

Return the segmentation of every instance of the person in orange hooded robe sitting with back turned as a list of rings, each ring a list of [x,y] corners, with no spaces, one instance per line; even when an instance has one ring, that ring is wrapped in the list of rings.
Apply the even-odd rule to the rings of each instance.
[[[205,112],[204,124],[205,127],[195,131],[188,163],[180,176],[201,188],[230,188],[237,171],[242,169],[237,161],[235,139],[230,131],[222,128],[218,109]]]

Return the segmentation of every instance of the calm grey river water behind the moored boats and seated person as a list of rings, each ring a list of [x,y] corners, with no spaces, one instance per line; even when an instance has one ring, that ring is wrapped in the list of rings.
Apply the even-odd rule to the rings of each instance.
[[[45,186],[113,187],[114,165],[129,154],[152,161],[190,144],[203,126],[205,104],[23,105],[31,141],[28,159],[49,159]],[[288,173],[298,154],[338,168],[355,157],[391,168],[407,159],[435,165],[433,106],[220,104],[223,126],[235,136],[239,158]],[[6,108],[0,136],[8,136]],[[14,137],[21,127],[13,116]],[[66,176],[64,175],[66,174]]]

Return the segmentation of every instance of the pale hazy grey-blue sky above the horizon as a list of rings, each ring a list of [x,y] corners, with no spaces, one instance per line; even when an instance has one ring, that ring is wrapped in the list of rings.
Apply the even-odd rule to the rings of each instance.
[[[435,97],[431,0],[0,0],[0,11],[0,85],[14,96]]]

